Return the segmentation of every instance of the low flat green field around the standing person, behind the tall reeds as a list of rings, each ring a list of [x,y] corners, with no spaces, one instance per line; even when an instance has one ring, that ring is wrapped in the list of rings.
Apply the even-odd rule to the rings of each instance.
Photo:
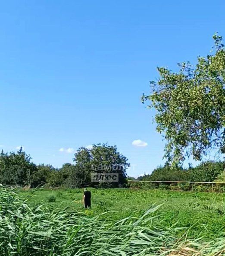
[[[151,205],[161,205],[154,221],[162,227],[173,229],[176,237],[185,233],[188,238],[202,237],[209,241],[225,236],[225,194],[210,192],[178,192],[144,189],[90,189],[92,209],[84,210],[82,189],[27,190],[20,191],[29,205],[43,204],[56,211],[81,211],[88,216],[97,216],[110,211],[103,218],[120,220],[128,216],[140,216]],[[49,202],[55,198],[55,202]],[[106,217],[107,216],[107,217]]]

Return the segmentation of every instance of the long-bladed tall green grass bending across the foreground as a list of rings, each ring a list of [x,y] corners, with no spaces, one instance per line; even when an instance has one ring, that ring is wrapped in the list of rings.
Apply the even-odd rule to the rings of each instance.
[[[0,255],[224,255],[225,239],[201,245],[170,235],[171,230],[162,229],[154,221],[158,207],[153,206],[139,218],[111,221],[107,213],[90,217],[66,209],[28,206],[13,190],[2,188]]]

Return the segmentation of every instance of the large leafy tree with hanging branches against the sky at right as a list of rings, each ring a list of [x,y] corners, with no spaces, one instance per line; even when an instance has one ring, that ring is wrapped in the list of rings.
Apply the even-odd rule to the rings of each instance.
[[[166,138],[165,157],[177,165],[191,155],[201,160],[209,150],[225,152],[225,47],[213,35],[214,54],[197,65],[179,64],[178,73],[158,67],[159,79],[142,102],[156,110],[156,130]]]

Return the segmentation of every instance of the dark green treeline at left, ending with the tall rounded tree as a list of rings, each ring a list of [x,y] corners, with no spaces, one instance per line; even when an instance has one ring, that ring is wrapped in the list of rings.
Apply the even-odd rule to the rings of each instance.
[[[65,163],[62,168],[51,165],[35,165],[22,148],[18,152],[1,152],[0,183],[21,187],[118,187],[126,183],[128,159],[108,144],[81,147],[74,155],[74,164]],[[118,182],[93,182],[92,173],[119,173]]]

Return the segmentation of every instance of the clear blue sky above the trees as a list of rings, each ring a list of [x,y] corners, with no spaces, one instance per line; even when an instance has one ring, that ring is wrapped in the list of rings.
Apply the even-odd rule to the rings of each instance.
[[[151,173],[164,142],[140,97],[156,66],[209,54],[214,32],[225,36],[224,11],[222,0],[2,2],[0,147],[23,145],[34,163],[59,167],[107,141],[129,175]]]

